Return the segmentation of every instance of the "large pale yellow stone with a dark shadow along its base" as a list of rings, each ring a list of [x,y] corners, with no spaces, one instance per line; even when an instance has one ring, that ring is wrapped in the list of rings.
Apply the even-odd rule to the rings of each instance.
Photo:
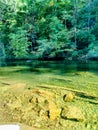
[[[75,121],[84,121],[84,115],[81,110],[75,106],[66,106],[62,109],[61,112],[62,118],[75,120]]]

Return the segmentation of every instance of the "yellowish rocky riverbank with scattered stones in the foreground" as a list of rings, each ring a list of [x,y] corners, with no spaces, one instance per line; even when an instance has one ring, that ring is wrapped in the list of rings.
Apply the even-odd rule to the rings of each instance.
[[[17,83],[1,87],[0,106],[1,123],[22,123],[40,130],[98,128],[97,96],[77,90]]]

